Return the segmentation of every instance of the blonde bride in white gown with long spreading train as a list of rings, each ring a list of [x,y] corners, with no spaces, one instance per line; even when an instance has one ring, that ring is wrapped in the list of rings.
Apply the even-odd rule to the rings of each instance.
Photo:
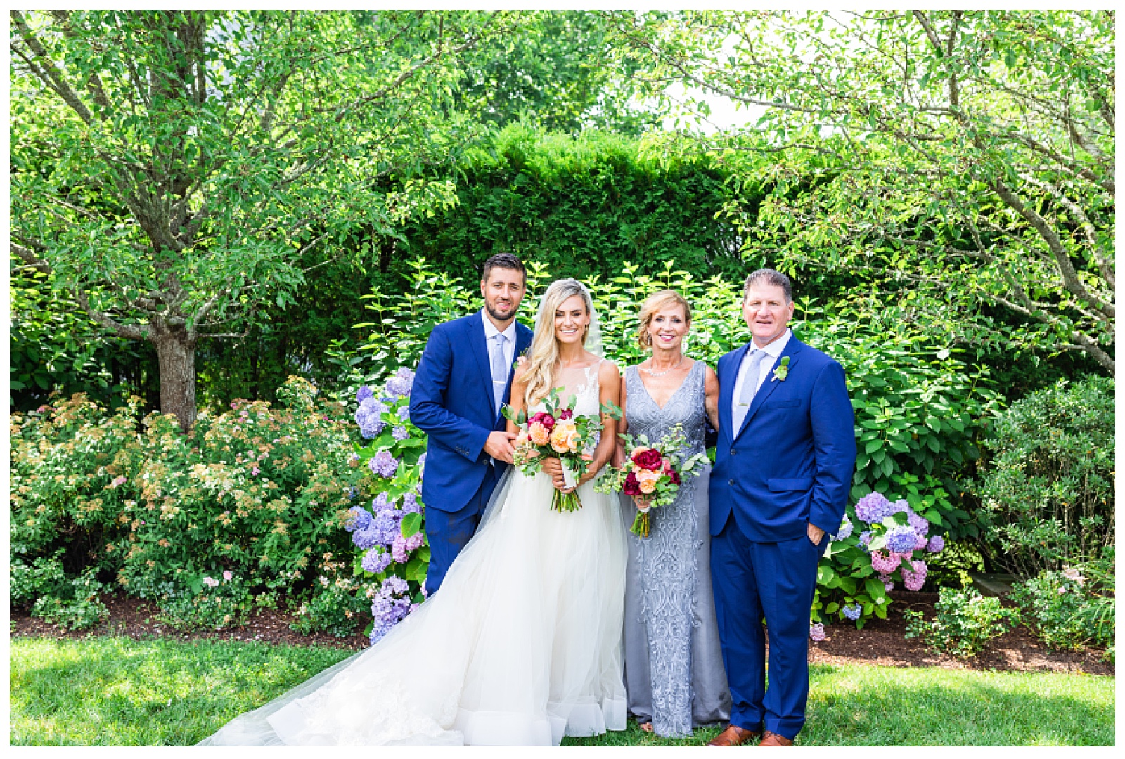
[[[513,407],[564,387],[576,414],[619,404],[590,292],[548,288]],[[204,746],[557,746],[626,729],[622,616],[627,543],[616,498],[591,481],[615,423],[577,486],[582,508],[551,510],[552,479],[510,467],[441,590],[376,645],[243,714]],[[514,425],[508,423],[514,431]]]

